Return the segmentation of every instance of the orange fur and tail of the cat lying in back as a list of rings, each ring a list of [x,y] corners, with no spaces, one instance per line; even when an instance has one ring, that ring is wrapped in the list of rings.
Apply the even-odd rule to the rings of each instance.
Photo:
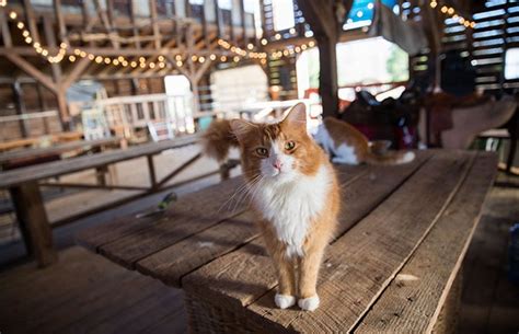
[[[383,154],[376,153],[376,150],[380,150],[382,143],[374,143],[373,146],[370,146],[368,138],[362,133],[344,120],[339,120],[334,117],[326,117],[324,118],[323,123],[330,136],[334,140],[335,146],[346,143],[347,146],[354,148],[358,163],[400,164],[410,162],[414,159],[414,154],[410,156],[408,152],[404,151],[388,151]]]

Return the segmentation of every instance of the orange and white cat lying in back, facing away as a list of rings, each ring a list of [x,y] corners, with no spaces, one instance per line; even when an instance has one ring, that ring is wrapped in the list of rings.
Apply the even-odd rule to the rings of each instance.
[[[334,163],[399,164],[411,162],[413,152],[388,151],[377,154],[368,138],[351,125],[334,117],[324,118],[314,135]]]

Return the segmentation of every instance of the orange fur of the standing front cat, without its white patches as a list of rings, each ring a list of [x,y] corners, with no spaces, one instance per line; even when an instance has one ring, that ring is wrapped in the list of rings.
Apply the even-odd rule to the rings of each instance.
[[[244,120],[233,120],[232,128],[240,142],[242,166],[250,184],[257,178],[261,173],[262,160],[265,159],[265,157],[258,156],[255,149],[268,147],[272,142],[278,142],[280,151],[295,158],[292,168],[300,175],[312,177],[324,168],[330,176],[327,194],[319,199],[323,201],[322,209],[307,224],[302,256],[287,256],[288,244],[278,235],[274,222],[264,218],[265,212],[255,205],[253,198],[253,207],[257,210],[258,216],[263,217],[258,224],[278,274],[278,295],[297,296],[301,302],[308,298],[316,297],[319,268],[324,249],[334,235],[341,195],[332,164],[323,150],[307,134],[304,107],[298,105],[295,108],[299,108],[299,112],[291,111],[278,124],[251,124]],[[299,116],[293,115],[296,113],[299,113]],[[304,114],[301,116],[301,113]],[[284,146],[287,141],[295,141],[296,148],[287,151]],[[302,181],[296,178],[293,182]],[[287,200],[289,201],[290,198]],[[308,310],[314,309],[307,307],[304,302],[300,303],[300,307]]]

